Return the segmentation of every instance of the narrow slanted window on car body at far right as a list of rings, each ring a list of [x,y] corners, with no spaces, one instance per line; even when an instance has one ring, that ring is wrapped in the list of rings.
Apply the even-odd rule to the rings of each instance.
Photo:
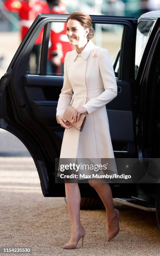
[[[145,46],[152,32],[155,20],[141,20],[137,24],[136,49],[135,49],[135,79],[140,67],[140,62],[145,50]]]

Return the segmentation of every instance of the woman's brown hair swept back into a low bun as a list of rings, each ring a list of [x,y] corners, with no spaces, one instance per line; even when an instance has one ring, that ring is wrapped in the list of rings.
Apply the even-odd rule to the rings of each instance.
[[[86,38],[89,40],[92,37],[94,37],[94,29],[92,28],[92,20],[91,17],[81,11],[75,11],[73,13],[71,13],[69,15],[69,17],[67,18],[67,22],[68,20],[77,20],[81,23],[81,26],[84,28],[89,28],[89,33],[86,36]]]

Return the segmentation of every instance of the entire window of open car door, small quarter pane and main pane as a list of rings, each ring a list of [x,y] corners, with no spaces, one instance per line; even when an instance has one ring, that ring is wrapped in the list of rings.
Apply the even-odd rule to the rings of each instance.
[[[66,36],[66,23],[52,22],[50,29],[50,37],[48,44],[47,72],[48,76],[63,76],[64,57],[66,52],[74,50],[74,46],[69,44]],[[93,24],[94,37],[91,39],[93,43],[104,49],[108,49],[111,59],[120,49],[122,41],[122,33],[124,26],[117,24]],[[34,39],[35,44],[29,56],[26,74],[40,73],[40,59],[42,49],[43,31]],[[115,75],[118,77],[119,61],[116,65]]]

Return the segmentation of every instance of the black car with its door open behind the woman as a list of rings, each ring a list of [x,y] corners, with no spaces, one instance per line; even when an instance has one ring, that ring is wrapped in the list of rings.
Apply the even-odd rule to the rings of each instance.
[[[63,27],[69,15],[39,14],[0,79],[0,128],[13,133],[30,152],[38,170],[44,197],[65,197],[64,184],[55,182],[64,129],[56,121],[63,74],[48,69],[50,31]],[[107,32],[121,31],[113,59],[117,97],[106,105],[115,158],[160,157],[160,11],[135,17],[91,15],[96,44]],[[57,23],[58,22],[58,23]],[[40,61],[32,65],[32,51],[43,29]],[[98,31],[100,31],[98,33]],[[102,33],[103,32],[103,33]],[[114,45],[113,45],[114,47]],[[115,125],[116,124],[116,125]],[[153,169],[153,175],[155,170]],[[144,210],[156,210],[160,229],[160,185],[110,184],[114,201]],[[102,206],[94,188],[79,184],[81,208]]]

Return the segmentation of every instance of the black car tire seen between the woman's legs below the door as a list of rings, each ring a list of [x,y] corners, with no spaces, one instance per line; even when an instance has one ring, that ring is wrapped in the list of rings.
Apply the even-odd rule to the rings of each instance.
[[[66,201],[66,197],[64,197]],[[98,197],[81,197],[80,209],[103,209],[104,204]]]

